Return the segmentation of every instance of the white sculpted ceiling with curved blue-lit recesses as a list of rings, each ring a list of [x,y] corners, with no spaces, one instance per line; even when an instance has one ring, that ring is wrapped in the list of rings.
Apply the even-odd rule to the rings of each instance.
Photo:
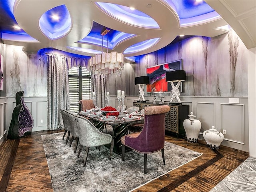
[[[228,24],[248,49],[256,47],[256,0],[2,0],[0,11],[4,44],[30,52],[132,57],[181,40],[179,35],[224,34]]]

